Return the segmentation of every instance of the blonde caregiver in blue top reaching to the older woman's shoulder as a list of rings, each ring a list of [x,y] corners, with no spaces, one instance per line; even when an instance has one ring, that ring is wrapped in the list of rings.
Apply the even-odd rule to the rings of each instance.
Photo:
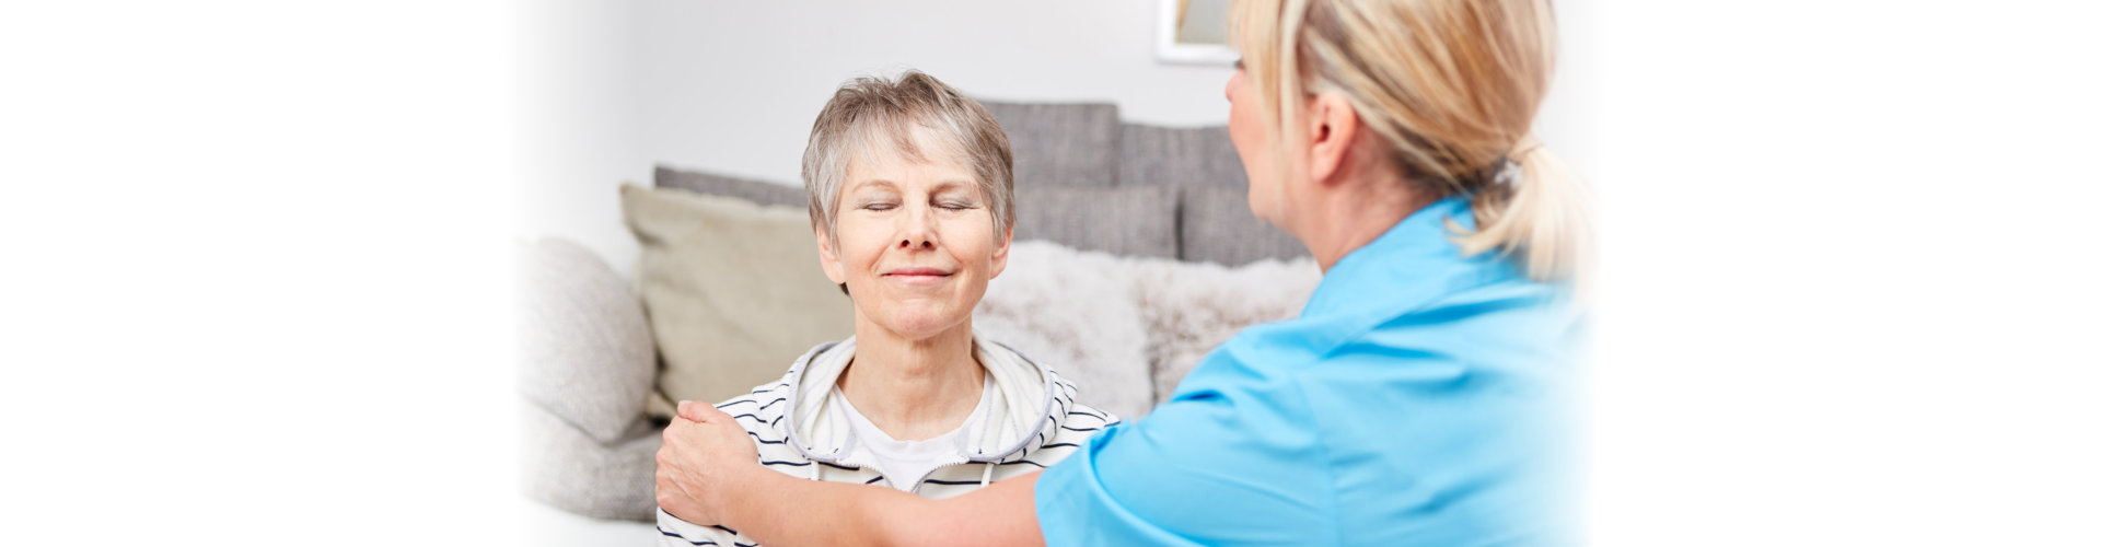
[[[1576,179],[1532,139],[1546,0],[1237,0],[1248,206],[1326,271],[1141,421],[931,501],[767,471],[681,404],[658,503],[767,545],[1572,543]]]

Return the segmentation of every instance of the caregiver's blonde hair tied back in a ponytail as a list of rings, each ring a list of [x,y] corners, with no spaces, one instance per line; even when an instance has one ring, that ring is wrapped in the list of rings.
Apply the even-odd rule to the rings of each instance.
[[[1412,185],[1473,196],[1475,229],[1454,238],[1466,255],[1519,255],[1542,282],[1586,269],[1586,189],[1532,137],[1555,65],[1548,0],[1235,0],[1231,40],[1282,135],[1280,170],[1303,139],[1282,128],[1305,109],[1282,97],[1334,93]]]

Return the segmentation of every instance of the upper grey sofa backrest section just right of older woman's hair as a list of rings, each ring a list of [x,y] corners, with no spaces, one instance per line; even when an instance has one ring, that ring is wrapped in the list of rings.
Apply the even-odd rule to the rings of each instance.
[[[983,105],[1015,149],[1015,187],[1116,185],[1116,105]]]

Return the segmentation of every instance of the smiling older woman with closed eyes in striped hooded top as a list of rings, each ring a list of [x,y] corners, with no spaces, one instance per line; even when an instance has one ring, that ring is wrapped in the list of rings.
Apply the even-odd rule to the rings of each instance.
[[[803,179],[824,274],[853,299],[853,337],[716,406],[758,467],[950,499],[1118,423],[1074,402],[1048,366],[971,332],[1015,221],[1013,151],[983,105],[918,72],[853,80],[817,114]],[[677,467],[670,457],[660,465]],[[672,494],[685,492],[660,475],[658,497]],[[662,545],[754,543],[664,509],[658,530]]]

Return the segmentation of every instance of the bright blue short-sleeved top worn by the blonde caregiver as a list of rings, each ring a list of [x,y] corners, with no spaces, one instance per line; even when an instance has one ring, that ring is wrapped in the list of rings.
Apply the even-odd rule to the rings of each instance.
[[[1557,545],[1580,318],[1435,202],[1036,482],[1048,545]]]

